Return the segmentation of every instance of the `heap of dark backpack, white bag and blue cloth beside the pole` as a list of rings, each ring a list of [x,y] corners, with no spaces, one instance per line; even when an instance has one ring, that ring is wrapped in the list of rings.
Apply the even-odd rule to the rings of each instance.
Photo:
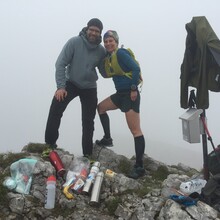
[[[210,178],[193,178],[180,184],[180,190],[170,198],[183,206],[196,205],[202,201],[220,211],[220,145],[208,154]]]

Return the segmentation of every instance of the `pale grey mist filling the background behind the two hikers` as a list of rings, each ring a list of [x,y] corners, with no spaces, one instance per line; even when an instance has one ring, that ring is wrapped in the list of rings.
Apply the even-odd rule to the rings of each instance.
[[[180,66],[185,51],[185,24],[206,16],[220,36],[220,1],[212,0],[0,0],[0,152],[20,152],[30,142],[44,143],[44,132],[56,90],[55,61],[72,36],[99,18],[119,34],[119,44],[131,48],[144,78],[141,127],[146,154],[167,164],[202,168],[202,143],[183,140],[179,117]],[[99,75],[99,101],[115,92],[111,79]],[[209,92],[208,129],[220,143],[219,93]],[[57,144],[82,155],[81,106],[73,100],[62,118]],[[114,150],[131,157],[134,140],[120,110],[109,112]],[[103,136],[98,114],[94,141]],[[212,150],[208,143],[208,151]]]

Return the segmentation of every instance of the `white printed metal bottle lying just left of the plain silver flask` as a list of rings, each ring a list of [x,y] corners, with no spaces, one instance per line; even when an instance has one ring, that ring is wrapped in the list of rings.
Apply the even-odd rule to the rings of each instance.
[[[86,179],[82,192],[88,194],[90,192],[91,186],[95,181],[96,175],[99,172],[100,162],[96,161],[90,170],[90,173]]]

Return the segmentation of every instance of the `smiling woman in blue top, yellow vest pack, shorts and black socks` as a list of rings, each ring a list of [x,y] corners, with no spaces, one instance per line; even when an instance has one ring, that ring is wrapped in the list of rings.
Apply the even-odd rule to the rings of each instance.
[[[140,93],[138,84],[141,81],[140,67],[130,50],[118,48],[119,37],[116,31],[104,34],[104,46],[108,52],[104,60],[105,72],[103,77],[112,77],[116,93],[98,104],[98,113],[104,130],[104,137],[97,140],[99,146],[112,146],[109,110],[120,109],[125,113],[128,127],[134,137],[136,163],[129,177],[137,179],[145,174],[143,155],[145,139],[140,127]]]

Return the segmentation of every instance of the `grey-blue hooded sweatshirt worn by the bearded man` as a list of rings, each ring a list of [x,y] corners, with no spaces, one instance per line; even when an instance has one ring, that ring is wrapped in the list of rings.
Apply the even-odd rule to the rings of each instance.
[[[57,89],[65,88],[67,80],[81,89],[96,88],[98,76],[95,68],[101,66],[105,56],[100,43],[101,40],[97,44],[90,43],[85,28],[79,36],[67,41],[55,64]]]

